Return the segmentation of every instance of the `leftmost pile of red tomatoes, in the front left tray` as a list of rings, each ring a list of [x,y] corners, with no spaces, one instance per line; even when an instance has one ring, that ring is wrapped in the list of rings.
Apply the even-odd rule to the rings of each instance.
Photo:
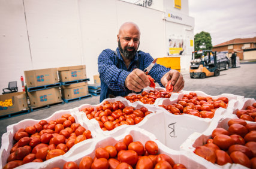
[[[63,155],[74,144],[91,138],[86,130],[70,114],[59,119],[40,120],[34,126],[20,128],[13,136],[14,146],[10,150],[4,168],[14,168],[28,162],[43,162]]]

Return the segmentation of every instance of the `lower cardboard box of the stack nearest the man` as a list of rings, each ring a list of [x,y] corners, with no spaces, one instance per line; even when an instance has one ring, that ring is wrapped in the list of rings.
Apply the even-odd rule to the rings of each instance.
[[[61,95],[64,99],[73,99],[86,96],[88,95],[87,82],[75,83],[68,86],[61,86]]]

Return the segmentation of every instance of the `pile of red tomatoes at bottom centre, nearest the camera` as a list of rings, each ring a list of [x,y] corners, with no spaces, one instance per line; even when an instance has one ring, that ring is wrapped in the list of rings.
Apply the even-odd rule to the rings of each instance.
[[[95,149],[95,158],[85,156],[79,165],[70,161],[64,164],[64,169],[70,168],[186,168],[183,164],[175,164],[173,159],[165,154],[158,154],[155,141],[133,141],[132,135],[126,135],[124,141],[115,146],[99,147]],[[55,169],[57,169],[56,167]]]

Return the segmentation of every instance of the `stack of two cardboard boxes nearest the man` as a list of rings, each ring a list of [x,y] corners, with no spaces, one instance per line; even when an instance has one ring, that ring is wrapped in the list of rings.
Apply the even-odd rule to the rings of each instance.
[[[76,82],[77,80],[86,79],[85,65],[74,67],[58,68],[59,81],[62,82]],[[77,81],[79,82],[79,81]],[[61,95],[64,100],[80,98],[88,95],[88,83],[80,82],[72,85],[62,85]]]

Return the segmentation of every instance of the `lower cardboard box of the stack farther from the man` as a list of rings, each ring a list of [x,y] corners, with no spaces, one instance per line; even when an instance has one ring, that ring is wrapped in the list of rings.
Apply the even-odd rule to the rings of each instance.
[[[59,87],[28,92],[28,96],[31,107],[41,107],[61,101],[61,91]]]

